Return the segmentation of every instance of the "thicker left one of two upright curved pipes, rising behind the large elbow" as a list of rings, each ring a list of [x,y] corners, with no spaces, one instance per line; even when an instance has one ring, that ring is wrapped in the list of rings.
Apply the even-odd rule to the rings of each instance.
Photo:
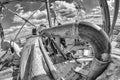
[[[110,33],[110,12],[109,12],[107,0],[98,0],[98,1],[101,7],[101,12],[102,12],[102,17],[103,17],[103,29],[109,35]]]

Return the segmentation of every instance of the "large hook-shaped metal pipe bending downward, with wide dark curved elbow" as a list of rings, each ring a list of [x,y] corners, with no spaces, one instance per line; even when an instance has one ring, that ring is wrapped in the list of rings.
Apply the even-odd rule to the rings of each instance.
[[[109,65],[111,45],[107,34],[97,25],[89,22],[71,23],[61,25],[40,32],[41,35],[52,34],[54,36],[88,40],[93,49],[95,59],[90,67],[87,80],[95,80]]]

